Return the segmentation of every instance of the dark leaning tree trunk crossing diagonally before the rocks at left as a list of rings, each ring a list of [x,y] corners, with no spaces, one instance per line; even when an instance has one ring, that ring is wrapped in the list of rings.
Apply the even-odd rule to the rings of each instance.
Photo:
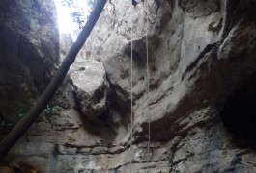
[[[70,69],[71,64],[74,62],[76,55],[83,46],[87,37],[89,37],[92,29],[94,28],[100,13],[103,11],[107,0],[98,0],[94,11],[91,13],[88,21],[83,27],[81,33],[77,37],[77,40],[71,46],[71,49],[66,56],[64,62],[62,62],[56,76],[52,79],[47,88],[43,91],[42,96],[38,102],[26,113],[26,115],[14,126],[14,129],[1,141],[0,143],[0,160],[4,158],[7,152],[14,146],[14,143],[22,136],[28,128],[36,121],[40,113],[45,109],[54,93],[61,86],[67,72]]]

